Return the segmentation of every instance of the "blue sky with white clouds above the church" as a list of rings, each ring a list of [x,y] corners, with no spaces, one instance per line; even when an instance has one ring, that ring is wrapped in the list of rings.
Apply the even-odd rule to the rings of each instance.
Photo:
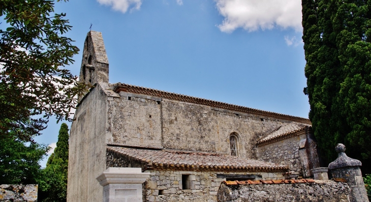
[[[301,1],[70,0],[67,13],[80,53],[86,33],[102,32],[110,83],[128,83],[307,118],[303,94]],[[51,119],[36,138],[57,141]],[[71,123],[68,123],[70,126]],[[46,159],[41,162],[45,166]]]

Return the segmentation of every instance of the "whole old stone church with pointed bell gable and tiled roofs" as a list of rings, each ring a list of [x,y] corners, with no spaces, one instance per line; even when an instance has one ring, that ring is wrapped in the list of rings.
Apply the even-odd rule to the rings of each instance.
[[[68,201],[102,201],[96,178],[108,167],[149,173],[143,201],[211,202],[225,180],[306,178],[320,166],[306,118],[111,84],[108,73],[102,34],[89,31],[80,81],[91,88],[71,127]]]

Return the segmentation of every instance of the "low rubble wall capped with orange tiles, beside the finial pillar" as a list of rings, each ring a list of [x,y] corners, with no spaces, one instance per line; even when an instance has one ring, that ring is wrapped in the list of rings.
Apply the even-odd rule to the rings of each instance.
[[[221,184],[218,201],[350,201],[348,184],[332,180],[292,184]]]

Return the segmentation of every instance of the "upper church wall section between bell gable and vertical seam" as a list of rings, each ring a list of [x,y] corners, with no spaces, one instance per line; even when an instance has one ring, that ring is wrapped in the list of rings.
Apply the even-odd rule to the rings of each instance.
[[[108,130],[114,144],[147,148],[161,146],[161,98],[120,92],[109,100]]]

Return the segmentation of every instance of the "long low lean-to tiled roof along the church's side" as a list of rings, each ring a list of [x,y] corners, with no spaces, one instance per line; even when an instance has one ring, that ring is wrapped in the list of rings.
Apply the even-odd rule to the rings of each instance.
[[[107,150],[145,163],[145,170],[238,170],[254,172],[289,170],[287,165],[217,153],[145,150],[111,146],[107,147]]]

